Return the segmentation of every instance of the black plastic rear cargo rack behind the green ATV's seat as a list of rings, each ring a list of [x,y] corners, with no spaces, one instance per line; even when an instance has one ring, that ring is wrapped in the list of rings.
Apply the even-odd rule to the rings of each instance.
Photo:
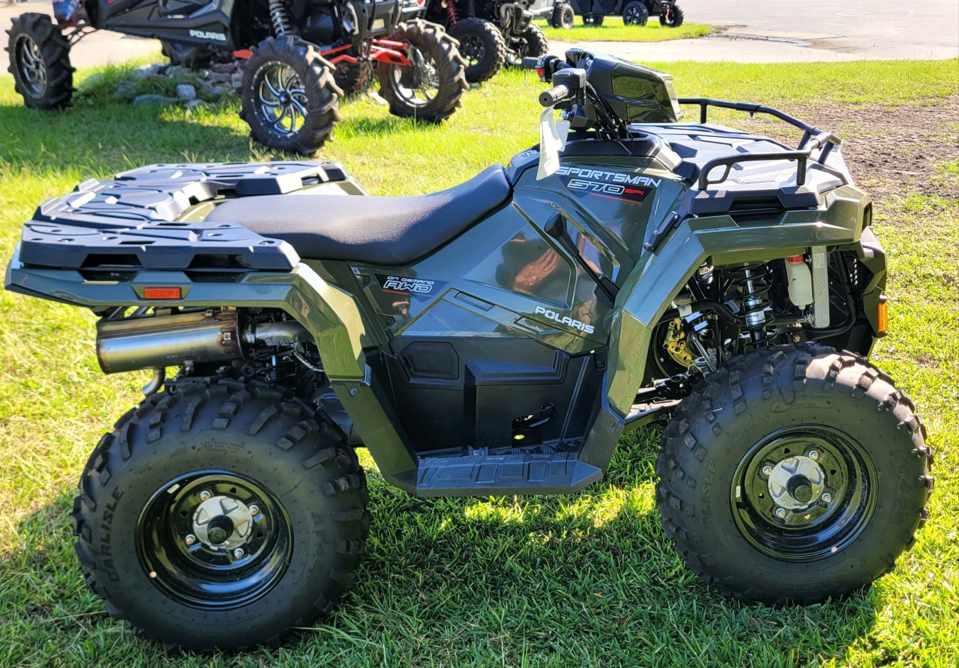
[[[159,164],[89,179],[48,199],[23,225],[23,265],[59,269],[289,271],[287,242],[239,224],[206,222],[191,207],[222,197],[281,195],[349,175],[335,162]]]

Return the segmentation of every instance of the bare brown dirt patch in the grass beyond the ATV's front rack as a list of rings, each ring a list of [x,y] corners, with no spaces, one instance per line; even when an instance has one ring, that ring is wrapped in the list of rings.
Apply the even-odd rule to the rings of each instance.
[[[959,96],[925,106],[821,103],[784,110],[838,134],[846,166],[876,201],[909,193],[959,198],[959,179],[936,169],[959,159]],[[784,124],[759,117],[732,125],[791,145],[797,141]]]

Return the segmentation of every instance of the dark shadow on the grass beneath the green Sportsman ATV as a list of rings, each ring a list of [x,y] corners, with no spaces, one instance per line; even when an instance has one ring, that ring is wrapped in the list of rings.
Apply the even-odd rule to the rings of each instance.
[[[279,653],[245,660],[778,665],[843,656],[869,633],[873,589],[774,610],[724,599],[691,575],[659,527],[657,442],[645,430],[621,444],[607,480],[579,495],[416,499],[371,472],[373,526],[351,591]],[[2,555],[14,663],[159,658],[83,587],[69,495],[21,521]]]

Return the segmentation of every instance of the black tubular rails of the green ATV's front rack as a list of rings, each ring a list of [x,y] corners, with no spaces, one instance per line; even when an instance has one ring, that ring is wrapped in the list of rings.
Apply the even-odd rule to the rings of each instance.
[[[845,182],[845,176],[826,167],[826,159],[830,151],[842,144],[842,140],[836,135],[818,127],[810,126],[805,121],[800,121],[794,116],[790,116],[784,111],[780,111],[772,106],[762,106],[761,104],[727,102],[724,100],[713,100],[711,98],[680,98],[679,104],[695,104],[699,106],[699,122],[705,124],[709,118],[709,107],[715,106],[724,109],[734,109],[735,111],[745,111],[750,116],[756,114],[766,114],[774,116],[781,121],[785,121],[790,126],[798,127],[803,130],[803,138],[799,142],[796,150],[778,150],[763,153],[736,153],[733,155],[723,155],[704,163],[699,168],[698,184],[700,190],[706,190],[710,186],[722,183],[732,171],[733,165],[742,162],[765,162],[770,160],[788,160],[796,161],[796,185],[802,186],[806,183],[806,172],[808,161],[812,158],[812,152],[820,149],[819,155],[815,157],[816,163],[821,169],[839,176]],[[710,173],[716,167],[725,167],[722,175],[717,179],[711,179]]]

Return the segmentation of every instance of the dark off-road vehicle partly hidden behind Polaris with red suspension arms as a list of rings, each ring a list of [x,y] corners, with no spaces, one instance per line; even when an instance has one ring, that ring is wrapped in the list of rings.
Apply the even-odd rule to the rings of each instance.
[[[495,77],[504,64],[546,56],[550,42],[532,20],[553,11],[544,0],[427,0],[424,16],[456,37],[466,79],[478,83]]]

